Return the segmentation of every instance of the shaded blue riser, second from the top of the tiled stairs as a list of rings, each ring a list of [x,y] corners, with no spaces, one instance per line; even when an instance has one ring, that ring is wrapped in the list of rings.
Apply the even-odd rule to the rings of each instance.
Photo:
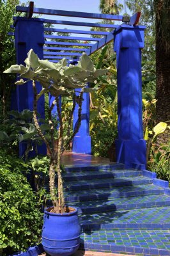
[[[73,180],[92,180],[92,179],[107,179],[107,178],[120,178],[120,177],[132,177],[132,176],[141,176],[141,172],[123,172],[123,173],[104,173],[100,175],[77,175],[76,177],[68,176],[64,177],[66,181],[73,181]]]

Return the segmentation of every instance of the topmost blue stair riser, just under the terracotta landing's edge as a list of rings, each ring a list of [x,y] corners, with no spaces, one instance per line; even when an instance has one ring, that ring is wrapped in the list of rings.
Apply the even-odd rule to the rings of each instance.
[[[98,170],[104,170],[104,171],[109,171],[109,170],[122,170],[124,164],[115,164],[112,166],[82,166],[82,167],[66,167],[65,171],[66,172],[80,172],[80,171],[98,171]]]

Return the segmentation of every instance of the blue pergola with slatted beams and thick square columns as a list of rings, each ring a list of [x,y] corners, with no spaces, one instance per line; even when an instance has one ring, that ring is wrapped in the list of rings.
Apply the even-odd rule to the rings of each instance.
[[[146,164],[146,141],[143,140],[142,93],[141,93],[141,49],[144,47],[144,26],[137,26],[141,13],[132,17],[107,15],[101,13],[68,12],[35,8],[30,2],[28,7],[17,6],[17,12],[26,13],[26,17],[13,17],[15,29],[15,49],[17,63],[22,64],[27,52],[32,48],[40,59],[58,62],[66,58],[68,63],[75,63],[82,52],[91,55],[112,40],[117,56],[118,69],[118,140],[116,154],[118,163],[125,163],[128,168],[134,164]],[[70,20],[37,19],[33,14],[70,17]],[[74,17],[101,20],[118,20],[122,24],[102,24],[73,21]],[[62,24],[75,26],[75,29],[47,28],[44,24]],[[107,31],[91,31],[76,29],[77,26],[109,28]],[[49,33],[62,35],[49,35]],[[65,33],[77,34],[66,36]],[[82,36],[79,36],[82,35]],[[93,35],[89,37],[86,35]],[[95,37],[95,35],[97,37]],[[98,37],[100,36],[100,37]],[[65,42],[66,40],[66,42]],[[68,42],[69,41],[69,42]],[[76,42],[75,42],[76,41]],[[78,41],[78,42],[77,42]],[[40,85],[39,85],[40,86]],[[13,100],[13,109],[33,109],[32,87],[18,86]],[[49,104],[53,101],[52,97]],[[44,99],[38,103],[38,111],[44,116]],[[73,129],[77,122],[77,107],[73,115]],[[20,145],[22,154],[26,145]],[[45,148],[39,148],[45,153]],[[73,139],[73,152],[91,154],[91,138],[89,136],[89,95],[85,93],[82,106],[82,124]]]

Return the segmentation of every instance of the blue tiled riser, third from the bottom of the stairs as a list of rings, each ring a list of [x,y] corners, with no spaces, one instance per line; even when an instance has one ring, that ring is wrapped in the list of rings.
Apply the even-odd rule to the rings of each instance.
[[[106,212],[106,211],[123,211],[130,209],[143,209],[143,208],[152,208],[152,207],[162,207],[162,206],[170,206],[170,201],[164,202],[148,202],[141,204],[121,204],[121,205],[102,205],[98,207],[81,207],[78,209],[78,214],[92,214],[95,212]],[[140,212],[139,212],[140,213]]]

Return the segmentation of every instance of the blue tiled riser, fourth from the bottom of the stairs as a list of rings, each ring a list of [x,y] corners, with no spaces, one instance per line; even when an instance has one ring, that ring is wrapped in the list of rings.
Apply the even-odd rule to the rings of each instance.
[[[84,195],[84,196],[68,196],[65,198],[66,202],[82,202],[89,200],[99,200],[108,198],[122,198],[130,196],[142,196],[142,195],[164,195],[163,189],[146,190],[146,191],[135,191],[135,192],[125,192],[125,193],[104,193],[96,195]]]

